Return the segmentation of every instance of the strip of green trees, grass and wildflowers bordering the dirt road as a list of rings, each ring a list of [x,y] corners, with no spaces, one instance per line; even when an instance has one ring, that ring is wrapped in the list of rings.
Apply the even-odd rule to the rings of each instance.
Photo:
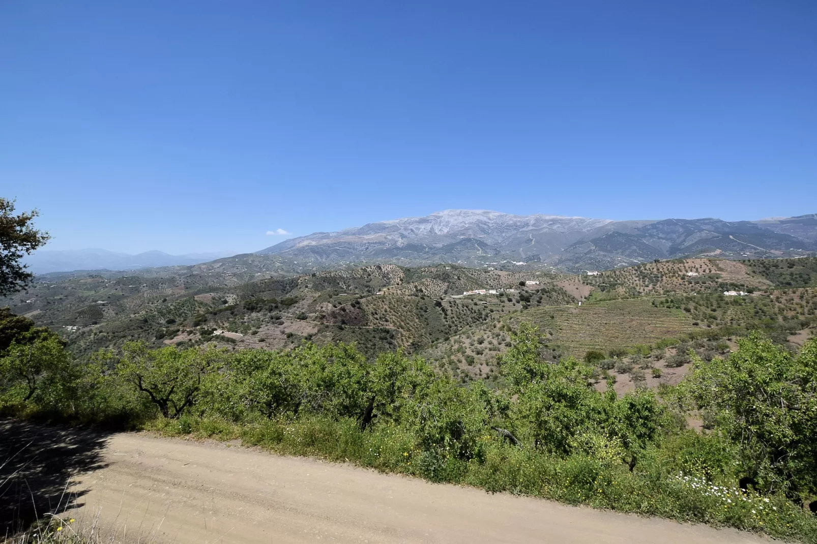
[[[74,360],[36,328],[0,359],[2,412],[38,421],[240,438],[491,492],[817,542],[817,342],[752,334],[660,394],[596,390],[591,364],[542,359],[521,324],[502,386],[462,386],[423,359],[303,342],[287,351],[129,342]],[[707,412],[711,430],[685,425]]]

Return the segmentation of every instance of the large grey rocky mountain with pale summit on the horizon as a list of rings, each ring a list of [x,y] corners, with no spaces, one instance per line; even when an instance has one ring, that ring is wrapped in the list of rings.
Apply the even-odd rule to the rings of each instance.
[[[542,262],[563,270],[717,255],[762,258],[817,250],[817,214],[761,221],[610,221],[446,210],[288,239],[257,252],[327,267],[353,262],[488,265]]]

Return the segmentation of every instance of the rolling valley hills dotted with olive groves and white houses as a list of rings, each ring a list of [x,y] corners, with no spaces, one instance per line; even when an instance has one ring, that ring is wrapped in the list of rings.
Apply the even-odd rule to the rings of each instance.
[[[440,264],[255,277],[212,265],[156,276],[50,274],[7,304],[78,355],[133,340],[229,350],[342,341],[369,359],[402,350],[463,383],[488,384],[511,332],[533,323],[546,359],[600,353],[596,380],[619,390],[672,381],[690,349],[712,357],[753,328],[789,345],[817,323],[815,258],[694,258],[592,275]],[[462,294],[478,290],[485,294]]]

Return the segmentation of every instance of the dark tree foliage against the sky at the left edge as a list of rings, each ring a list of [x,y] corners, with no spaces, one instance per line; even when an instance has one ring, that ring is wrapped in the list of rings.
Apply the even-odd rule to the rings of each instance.
[[[47,232],[37,230],[31,224],[37,210],[14,215],[14,200],[0,198],[0,297],[24,289],[33,278],[20,263],[23,255],[30,255],[44,245]]]

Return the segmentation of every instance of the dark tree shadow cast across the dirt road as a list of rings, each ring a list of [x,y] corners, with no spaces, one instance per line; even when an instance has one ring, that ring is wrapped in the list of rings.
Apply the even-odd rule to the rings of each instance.
[[[0,419],[0,535],[74,506],[87,489],[69,488],[72,476],[104,468],[109,434]]]

